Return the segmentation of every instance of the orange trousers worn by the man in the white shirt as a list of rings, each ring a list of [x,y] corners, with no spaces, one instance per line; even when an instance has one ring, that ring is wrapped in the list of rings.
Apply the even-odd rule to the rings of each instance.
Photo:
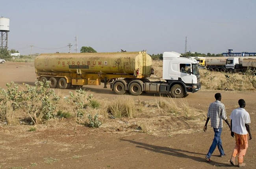
[[[233,157],[238,155],[238,163],[243,163],[243,156],[245,156],[248,148],[248,134],[240,135],[235,133],[236,146],[233,151]]]

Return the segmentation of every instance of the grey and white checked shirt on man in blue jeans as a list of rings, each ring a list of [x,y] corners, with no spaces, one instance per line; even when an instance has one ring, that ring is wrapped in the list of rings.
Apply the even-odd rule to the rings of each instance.
[[[223,127],[223,120],[227,119],[224,104],[219,100],[211,103],[208,109],[207,117],[211,119],[211,127],[219,129]]]

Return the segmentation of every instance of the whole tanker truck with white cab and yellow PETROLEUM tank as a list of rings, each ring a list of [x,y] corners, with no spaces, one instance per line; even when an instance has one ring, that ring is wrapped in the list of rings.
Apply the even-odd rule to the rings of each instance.
[[[176,52],[163,53],[165,81],[159,82],[147,78],[154,69],[146,51],[41,54],[35,58],[35,72],[38,80],[60,89],[104,83],[116,94],[169,93],[177,98],[201,89],[197,61]]]

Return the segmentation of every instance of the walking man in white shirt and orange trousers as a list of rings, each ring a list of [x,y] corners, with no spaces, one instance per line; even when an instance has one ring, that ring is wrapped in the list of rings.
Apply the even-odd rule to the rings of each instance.
[[[234,148],[233,154],[230,159],[232,165],[236,165],[235,159],[238,155],[238,166],[243,167],[245,163],[243,162],[243,156],[245,156],[246,150],[248,148],[248,133],[249,140],[252,139],[252,134],[250,133],[250,115],[245,111],[245,100],[240,99],[238,101],[239,108],[234,109],[230,115],[231,119],[231,136],[236,138],[236,146]]]

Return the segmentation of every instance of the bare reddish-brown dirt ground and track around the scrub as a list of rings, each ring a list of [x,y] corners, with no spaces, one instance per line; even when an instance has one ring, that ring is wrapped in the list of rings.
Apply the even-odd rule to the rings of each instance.
[[[0,87],[8,82],[33,85],[35,70],[32,63],[6,62],[0,64]],[[103,86],[86,86],[90,93],[98,99],[112,100],[117,95]],[[73,90],[73,89],[71,89]],[[57,93],[68,94],[70,89]],[[217,91],[202,89],[189,94],[186,100],[199,110],[207,111],[208,105],[214,101]],[[219,91],[223,95],[222,102],[226,106],[228,116],[237,107],[240,98],[247,102],[246,109],[250,113],[253,139],[249,140],[249,149],[245,156],[247,166],[256,166],[256,132],[255,100],[253,91]],[[158,95],[143,94],[134,99],[145,101],[156,100]],[[100,127],[91,129],[64,120],[59,127],[49,122],[39,125],[37,130],[29,132],[31,126],[7,126],[0,124],[0,169],[22,168],[99,168],[99,169],[151,169],[151,168],[230,168],[230,159],[234,148],[234,138],[224,124],[222,139],[226,157],[219,157],[216,149],[211,157],[212,162],[204,160],[205,154],[213,139],[213,130],[208,124],[208,131],[202,131],[204,120],[191,129],[181,133],[145,134],[140,131],[109,131]]]

